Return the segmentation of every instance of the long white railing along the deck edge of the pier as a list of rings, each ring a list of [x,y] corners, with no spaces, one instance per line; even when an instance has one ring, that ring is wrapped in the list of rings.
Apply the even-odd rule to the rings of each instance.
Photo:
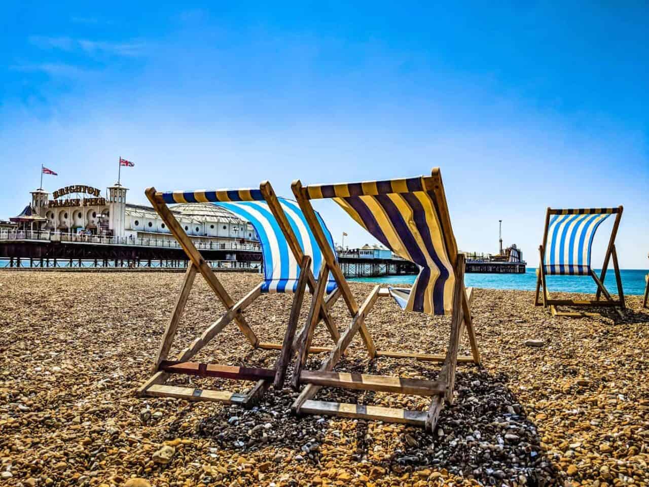
[[[88,235],[66,232],[50,231],[0,231],[1,240],[38,240],[45,242],[73,242],[73,243],[102,243],[106,245],[134,245],[140,247],[165,247],[180,249],[180,245],[173,238],[143,238],[143,237],[117,237],[106,235]],[[242,250],[261,252],[258,243],[240,242],[215,242],[193,238],[194,245],[199,250]]]

